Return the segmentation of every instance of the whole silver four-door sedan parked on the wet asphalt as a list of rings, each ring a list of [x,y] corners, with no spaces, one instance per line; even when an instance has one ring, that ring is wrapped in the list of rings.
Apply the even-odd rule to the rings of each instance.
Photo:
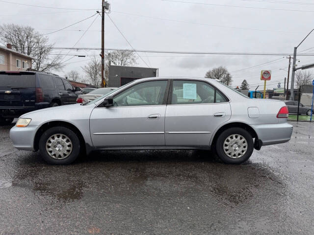
[[[10,137],[50,164],[105,149],[206,149],[240,164],[254,148],[289,141],[287,119],[284,102],[250,99],[214,79],[154,77],[89,103],[25,114]]]

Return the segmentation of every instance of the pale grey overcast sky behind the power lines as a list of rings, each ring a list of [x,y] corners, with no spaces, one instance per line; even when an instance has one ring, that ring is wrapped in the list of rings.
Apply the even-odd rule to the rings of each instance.
[[[101,0],[6,1],[59,8],[101,8]],[[314,27],[314,24],[311,25],[314,2],[310,0],[182,1],[207,4],[164,0],[111,0],[109,1],[110,17],[134,48],[166,51],[293,53],[293,47],[297,46]],[[0,2],[0,6],[1,23],[29,25],[43,34],[73,24],[95,13],[95,10],[51,9],[6,2]],[[55,43],[55,47],[73,47],[95,17],[67,30],[50,34],[50,41]],[[98,16],[76,47],[101,47],[100,30],[101,17]],[[313,42],[314,33],[306,39],[298,51],[314,47]],[[105,17],[105,47],[131,48],[107,16]],[[303,53],[305,52],[314,53],[314,48]],[[68,51],[64,50],[62,53],[66,54]],[[98,55],[100,51],[80,50],[70,51],[69,54],[94,53]],[[267,86],[269,89],[277,87],[278,82],[283,86],[287,72],[279,69],[288,70],[288,59],[278,55],[156,53],[140,53],[140,55],[150,67],[159,68],[159,76],[204,77],[206,71],[222,65],[231,72],[233,87],[240,86],[242,80],[246,79],[252,89],[258,84],[262,85],[261,70],[272,70],[272,81],[268,82]],[[66,56],[64,60],[70,58],[71,56]],[[78,70],[83,74],[81,66],[87,63],[86,60],[89,58],[72,58],[66,62],[64,70],[57,73],[63,75],[70,70]],[[297,59],[300,59],[298,66],[314,63],[314,56],[298,56]],[[266,62],[270,63],[238,71]],[[137,66],[146,67],[140,59]]]

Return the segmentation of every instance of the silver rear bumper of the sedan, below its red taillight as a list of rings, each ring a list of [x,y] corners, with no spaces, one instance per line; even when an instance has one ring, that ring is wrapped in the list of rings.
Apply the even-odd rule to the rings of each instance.
[[[291,139],[293,126],[286,123],[278,124],[256,124],[251,125],[255,130],[262,146],[285,143]]]

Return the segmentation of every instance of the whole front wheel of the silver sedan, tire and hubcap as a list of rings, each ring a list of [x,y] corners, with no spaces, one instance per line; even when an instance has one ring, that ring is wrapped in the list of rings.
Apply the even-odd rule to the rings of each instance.
[[[45,131],[39,140],[39,150],[49,164],[71,164],[80,153],[78,136],[63,126]]]

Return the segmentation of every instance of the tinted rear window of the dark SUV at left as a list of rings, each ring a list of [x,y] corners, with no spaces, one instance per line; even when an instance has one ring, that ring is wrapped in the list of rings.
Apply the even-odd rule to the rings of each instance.
[[[36,87],[35,73],[0,72],[0,87]]]

